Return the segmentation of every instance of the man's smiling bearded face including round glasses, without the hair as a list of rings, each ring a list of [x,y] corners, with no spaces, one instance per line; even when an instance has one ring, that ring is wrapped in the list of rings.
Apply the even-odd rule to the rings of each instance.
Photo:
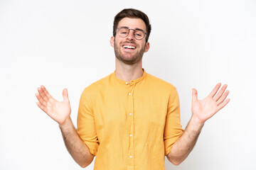
[[[130,30],[132,33],[129,33]],[[144,52],[149,50],[149,42],[142,40],[148,36],[144,30],[146,31],[146,26],[141,18],[122,18],[119,21],[118,28],[114,28],[114,36],[110,40],[114,54],[119,60],[116,62],[128,65],[142,63]],[[116,34],[118,36],[115,36]]]

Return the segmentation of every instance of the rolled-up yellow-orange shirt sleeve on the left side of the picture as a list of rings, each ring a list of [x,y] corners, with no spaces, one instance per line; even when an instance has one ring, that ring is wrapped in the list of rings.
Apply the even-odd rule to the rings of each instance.
[[[90,92],[85,89],[80,97],[78,108],[78,135],[85,142],[90,153],[96,156],[100,142],[95,128],[95,117],[92,109]]]

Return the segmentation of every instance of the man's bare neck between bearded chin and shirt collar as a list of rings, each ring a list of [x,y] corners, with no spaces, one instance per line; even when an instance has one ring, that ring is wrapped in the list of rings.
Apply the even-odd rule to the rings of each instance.
[[[136,64],[129,65],[120,62],[116,58],[115,75],[118,79],[122,79],[124,81],[139,79],[139,77],[142,77],[143,75],[142,60]]]

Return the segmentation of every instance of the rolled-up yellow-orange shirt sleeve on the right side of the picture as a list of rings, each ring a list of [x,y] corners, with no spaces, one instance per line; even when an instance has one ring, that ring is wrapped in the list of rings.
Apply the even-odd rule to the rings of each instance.
[[[178,92],[174,87],[169,97],[169,105],[166,115],[166,125],[164,128],[165,155],[171,152],[171,147],[174,145],[176,140],[181,137],[182,133],[183,129],[181,126]]]

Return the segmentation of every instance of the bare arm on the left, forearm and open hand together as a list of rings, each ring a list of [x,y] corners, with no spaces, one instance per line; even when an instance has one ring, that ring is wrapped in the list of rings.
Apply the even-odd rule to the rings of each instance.
[[[44,86],[38,88],[36,98],[38,98],[36,103],[38,107],[59,124],[65,146],[75,162],[82,167],[88,166],[94,156],[90,154],[88,147],[80,139],[70,119],[71,108],[67,89],[63,89],[62,102],[50,96]]]

